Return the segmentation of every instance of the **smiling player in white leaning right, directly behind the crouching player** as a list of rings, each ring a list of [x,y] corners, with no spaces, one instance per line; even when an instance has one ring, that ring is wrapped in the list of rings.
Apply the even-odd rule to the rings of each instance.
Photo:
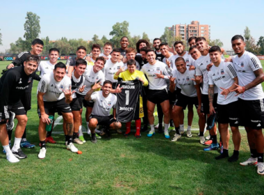
[[[109,59],[109,60],[111,60],[111,59]],[[88,65],[88,67],[86,68],[84,75],[83,75],[85,78],[84,91],[83,92],[76,91],[76,96],[79,99],[79,104],[81,106],[81,111],[80,111],[81,114],[83,112],[83,107],[86,108],[85,119],[86,119],[86,123],[87,123],[87,127],[88,127],[88,134],[90,134],[89,116],[92,112],[92,107],[94,107],[94,102],[92,102],[92,101],[88,102],[88,101],[84,100],[84,98],[85,98],[85,94],[90,90],[90,88],[92,88],[92,86],[95,83],[97,83],[98,81],[104,82],[105,77],[104,77],[104,72],[102,72],[102,70],[104,68],[105,63],[106,63],[106,59],[104,59],[104,57],[97,57],[94,65]],[[82,129],[82,120],[80,121],[80,126],[79,126],[79,139],[81,139],[81,141],[83,141],[85,143],[85,139],[83,137],[83,132],[81,129]],[[101,138],[98,135],[97,135],[97,137],[99,139]]]

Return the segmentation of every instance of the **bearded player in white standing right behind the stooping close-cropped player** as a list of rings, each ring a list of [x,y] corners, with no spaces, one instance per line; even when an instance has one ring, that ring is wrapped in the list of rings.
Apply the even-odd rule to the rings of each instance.
[[[186,66],[189,69],[194,64],[194,59],[192,59],[192,56],[188,52],[186,52],[185,46],[182,41],[176,41],[174,42],[174,49],[177,52],[176,55],[172,58],[173,69],[176,68],[175,66],[175,60],[179,57],[182,57],[185,60]],[[176,94],[181,95],[181,86],[177,84]],[[192,119],[193,119],[193,104],[188,104],[188,127],[187,127],[187,137],[192,137],[191,127],[192,127]],[[184,113],[183,109],[181,109],[181,114],[179,115],[180,119],[180,132],[181,134],[184,133]]]

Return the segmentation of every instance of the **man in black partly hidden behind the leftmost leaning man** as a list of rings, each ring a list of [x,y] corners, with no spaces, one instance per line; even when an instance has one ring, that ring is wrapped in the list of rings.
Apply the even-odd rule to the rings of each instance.
[[[29,55],[40,55],[42,52],[43,46],[44,46],[44,42],[42,40],[40,40],[39,38],[34,39],[31,44],[31,51],[21,52],[20,54],[18,54],[15,60],[12,63],[10,63],[10,65],[7,66],[7,69],[13,68],[15,66],[23,66],[24,62],[26,61],[26,58]],[[40,77],[36,74],[33,79],[40,81]],[[33,81],[30,84],[31,86],[29,86],[26,89],[26,92],[21,99],[24,109],[26,111],[31,109],[31,91],[32,91]],[[10,140],[11,140],[12,132],[13,132],[12,130],[8,131],[8,137]],[[34,148],[35,147],[34,144],[31,144],[29,141],[26,140],[26,129],[24,130],[24,134],[22,137],[21,147],[22,148]]]

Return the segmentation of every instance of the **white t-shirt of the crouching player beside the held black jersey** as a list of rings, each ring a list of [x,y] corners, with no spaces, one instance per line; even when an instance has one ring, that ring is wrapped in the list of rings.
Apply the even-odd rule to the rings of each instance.
[[[104,98],[102,91],[96,91],[91,95],[92,101],[94,102],[94,107],[92,108],[92,114],[97,116],[109,116],[110,110],[113,107],[115,109],[117,96],[109,93],[109,95]]]

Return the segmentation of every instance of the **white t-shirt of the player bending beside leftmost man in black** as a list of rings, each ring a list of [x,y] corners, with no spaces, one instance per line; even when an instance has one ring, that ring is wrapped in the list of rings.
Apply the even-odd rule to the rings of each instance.
[[[65,98],[63,89],[69,89],[71,85],[72,81],[69,77],[65,76],[61,81],[56,81],[53,73],[51,73],[42,77],[38,83],[38,91],[45,93],[43,95],[43,100],[45,102],[56,102]]]

